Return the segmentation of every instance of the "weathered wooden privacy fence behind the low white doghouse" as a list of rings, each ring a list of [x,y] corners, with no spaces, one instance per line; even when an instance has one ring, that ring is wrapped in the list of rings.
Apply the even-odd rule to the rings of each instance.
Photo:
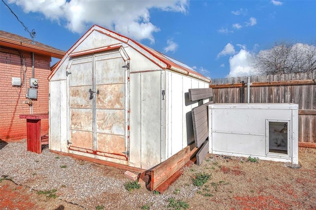
[[[246,103],[247,77],[212,79],[214,103]],[[299,105],[299,146],[316,148],[316,72],[250,76],[250,103]]]

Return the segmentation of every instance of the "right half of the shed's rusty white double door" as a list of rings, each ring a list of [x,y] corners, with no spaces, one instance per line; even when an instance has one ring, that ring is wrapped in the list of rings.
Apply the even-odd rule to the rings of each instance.
[[[125,156],[125,61],[119,53],[95,58],[96,150]],[[119,158],[119,157],[117,157]]]

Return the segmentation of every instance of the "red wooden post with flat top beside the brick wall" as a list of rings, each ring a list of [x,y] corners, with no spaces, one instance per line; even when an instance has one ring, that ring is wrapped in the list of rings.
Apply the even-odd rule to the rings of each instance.
[[[48,114],[20,115],[26,119],[27,150],[41,153],[40,120],[47,119]]]

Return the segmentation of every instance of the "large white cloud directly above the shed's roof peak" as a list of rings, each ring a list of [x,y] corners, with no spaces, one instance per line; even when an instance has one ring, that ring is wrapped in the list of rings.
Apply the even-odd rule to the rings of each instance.
[[[150,9],[186,14],[188,0],[8,0],[24,12],[39,12],[45,18],[82,33],[93,24],[122,33],[136,40],[155,42],[160,29],[150,22]]]

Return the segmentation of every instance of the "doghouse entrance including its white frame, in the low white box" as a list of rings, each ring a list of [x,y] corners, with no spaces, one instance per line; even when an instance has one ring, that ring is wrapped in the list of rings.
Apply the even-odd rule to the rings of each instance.
[[[289,154],[289,121],[267,120],[267,154]]]

